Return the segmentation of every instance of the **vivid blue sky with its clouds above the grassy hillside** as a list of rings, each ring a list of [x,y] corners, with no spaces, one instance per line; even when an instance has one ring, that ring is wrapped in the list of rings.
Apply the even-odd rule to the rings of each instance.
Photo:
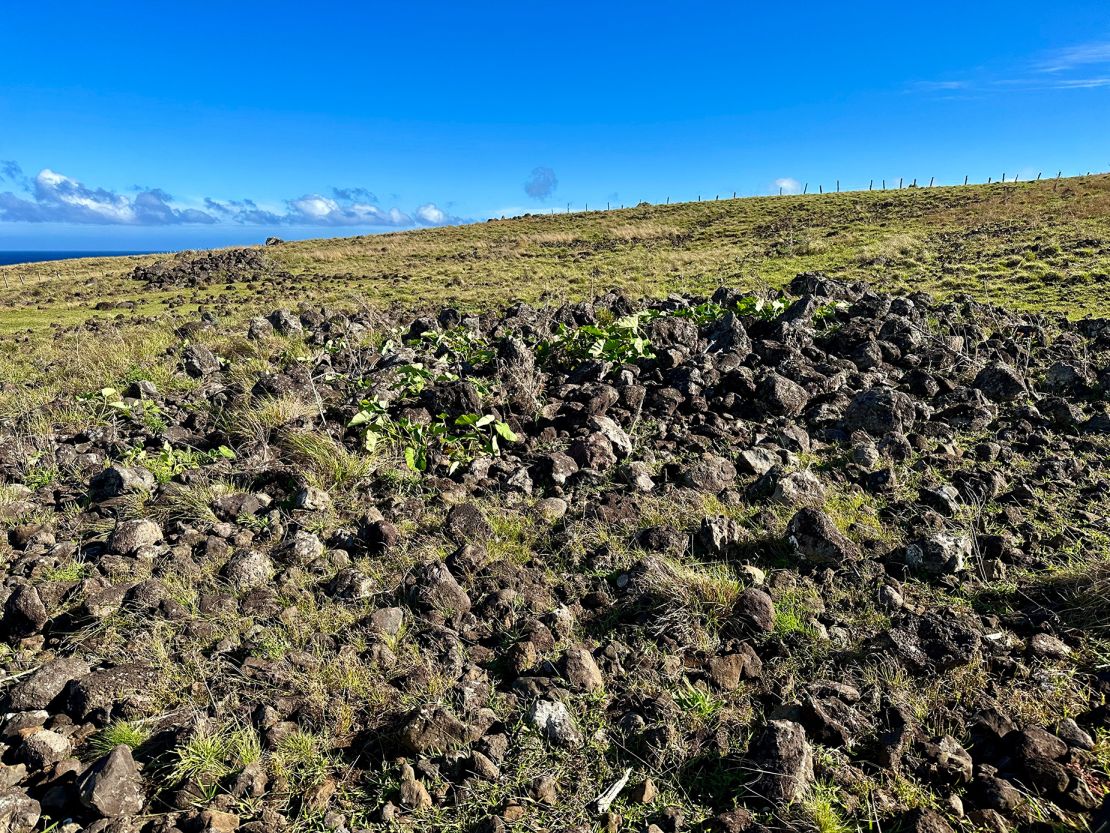
[[[1104,2],[11,3],[0,249],[1110,169]]]

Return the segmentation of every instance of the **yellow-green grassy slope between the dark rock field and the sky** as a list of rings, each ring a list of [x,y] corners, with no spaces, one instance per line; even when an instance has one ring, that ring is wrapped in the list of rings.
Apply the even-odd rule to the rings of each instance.
[[[0,269],[0,333],[77,323],[100,302],[125,317],[199,303],[282,301],[475,308],[507,299],[778,287],[821,270],[885,289],[969,292],[1023,309],[1110,313],[1110,175],[644,205],[268,250],[295,278],[150,292],[127,279],[142,258]],[[255,303],[256,302],[256,303]]]

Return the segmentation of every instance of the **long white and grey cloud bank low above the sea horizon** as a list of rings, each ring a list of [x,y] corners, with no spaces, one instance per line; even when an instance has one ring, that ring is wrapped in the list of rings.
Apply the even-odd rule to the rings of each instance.
[[[206,197],[200,207],[181,205],[160,188],[137,188],[121,194],[92,188],[49,168],[24,175],[14,161],[0,160],[0,222],[74,223],[88,225],[296,225],[313,228],[412,229],[454,225],[470,220],[454,217],[434,202],[412,211],[382,208],[364,188],[333,188],[331,195],[309,193],[284,201],[279,210],[250,199]]]

